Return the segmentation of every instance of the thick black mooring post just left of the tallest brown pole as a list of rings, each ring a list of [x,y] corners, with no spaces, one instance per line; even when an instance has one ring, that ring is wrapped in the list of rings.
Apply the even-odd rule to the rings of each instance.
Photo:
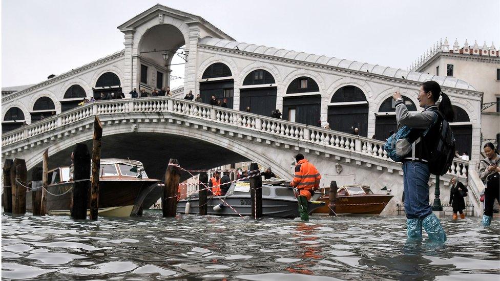
[[[73,152],[73,190],[71,218],[87,219],[87,206],[90,188],[90,153],[85,143],[77,143]]]

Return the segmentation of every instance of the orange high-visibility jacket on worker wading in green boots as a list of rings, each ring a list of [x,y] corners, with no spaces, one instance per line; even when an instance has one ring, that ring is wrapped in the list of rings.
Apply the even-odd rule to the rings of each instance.
[[[310,200],[310,192],[302,192],[302,190],[319,188],[320,180],[321,175],[316,167],[306,159],[302,159],[295,166],[295,177],[290,182],[290,185],[299,189],[300,195],[306,196],[307,200]],[[309,196],[307,196],[307,193]]]

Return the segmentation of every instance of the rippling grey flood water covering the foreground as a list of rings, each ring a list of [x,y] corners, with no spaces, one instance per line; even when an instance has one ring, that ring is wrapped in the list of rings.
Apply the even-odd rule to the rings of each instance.
[[[444,245],[407,242],[404,216],[178,215],[75,222],[2,216],[2,279],[498,280],[499,223],[442,220]],[[426,234],[424,234],[426,237]]]

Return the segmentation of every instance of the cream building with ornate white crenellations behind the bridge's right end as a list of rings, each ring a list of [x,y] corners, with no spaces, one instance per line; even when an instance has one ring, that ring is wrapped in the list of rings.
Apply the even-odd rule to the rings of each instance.
[[[486,42],[478,46],[477,41],[469,46],[467,40],[463,46],[455,39],[453,46],[448,39],[436,44],[421,56],[411,66],[411,70],[430,75],[452,77],[466,80],[474,85],[477,91],[483,92],[481,107],[481,134],[482,145],[492,142],[498,146],[500,131],[500,57],[493,42],[488,47]],[[457,119],[453,132],[459,136],[467,135],[471,131],[467,113],[457,109]],[[470,150],[460,147],[457,150]],[[478,153],[478,152],[474,152]]]

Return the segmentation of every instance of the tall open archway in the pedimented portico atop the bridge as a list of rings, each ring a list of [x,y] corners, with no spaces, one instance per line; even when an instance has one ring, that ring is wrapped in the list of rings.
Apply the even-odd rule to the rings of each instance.
[[[142,35],[138,51],[137,80],[132,88],[150,96],[155,89],[173,90],[183,85],[189,52],[177,27],[161,24],[150,28]]]

